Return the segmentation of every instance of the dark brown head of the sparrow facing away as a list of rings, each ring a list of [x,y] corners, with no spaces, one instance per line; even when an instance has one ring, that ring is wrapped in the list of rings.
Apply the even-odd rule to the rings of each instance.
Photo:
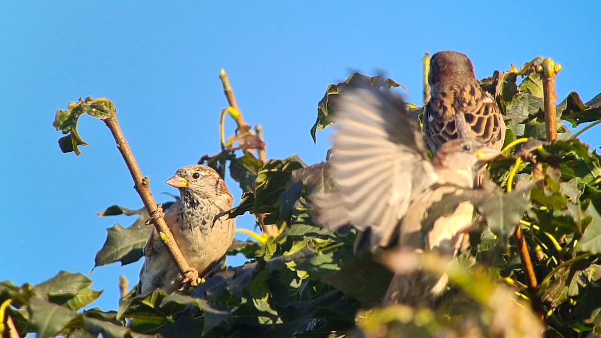
[[[463,85],[466,81],[474,81],[474,65],[468,55],[456,51],[436,52],[430,58],[428,82],[432,87],[444,85]]]

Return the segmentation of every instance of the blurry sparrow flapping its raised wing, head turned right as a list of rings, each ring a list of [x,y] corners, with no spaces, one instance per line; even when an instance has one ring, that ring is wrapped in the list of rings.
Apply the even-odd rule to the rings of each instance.
[[[311,197],[315,220],[331,230],[359,230],[356,247],[454,254],[472,224],[474,207],[459,204],[452,215],[430,220],[430,206],[445,194],[472,189],[478,169],[499,155],[474,140],[445,143],[430,160],[418,126],[403,99],[390,91],[353,83],[335,115],[331,176],[337,188]],[[421,303],[446,286],[420,283],[419,275],[393,278],[385,303]],[[436,286],[435,286],[436,284]]]

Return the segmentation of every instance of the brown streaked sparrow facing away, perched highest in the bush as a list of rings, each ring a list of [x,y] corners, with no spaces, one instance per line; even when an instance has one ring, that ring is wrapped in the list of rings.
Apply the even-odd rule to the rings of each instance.
[[[428,81],[432,96],[423,124],[433,153],[457,138],[501,149],[505,123],[495,99],[480,88],[467,55],[455,51],[435,53],[430,59]]]

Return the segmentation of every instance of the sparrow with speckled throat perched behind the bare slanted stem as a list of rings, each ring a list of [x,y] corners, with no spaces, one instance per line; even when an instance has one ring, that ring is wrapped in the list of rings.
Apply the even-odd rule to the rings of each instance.
[[[203,277],[223,259],[233,241],[236,220],[227,216],[215,220],[215,216],[231,209],[234,198],[219,174],[204,165],[183,167],[166,183],[180,190],[180,199],[165,212],[165,223],[188,264]],[[136,293],[157,287],[174,292],[182,275],[155,229],[144,256]]]

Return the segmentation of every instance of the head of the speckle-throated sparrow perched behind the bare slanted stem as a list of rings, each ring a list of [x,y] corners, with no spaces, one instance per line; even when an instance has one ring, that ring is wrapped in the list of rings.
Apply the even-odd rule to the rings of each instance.
[[[188,165],[175,172],[175,175],[167,180],[168,185],[180,190],[182,198],[189,197],[200,201],[216,197],[228,197],[233,201],[230,189],[224,180],[213,168],[206,165]]]

